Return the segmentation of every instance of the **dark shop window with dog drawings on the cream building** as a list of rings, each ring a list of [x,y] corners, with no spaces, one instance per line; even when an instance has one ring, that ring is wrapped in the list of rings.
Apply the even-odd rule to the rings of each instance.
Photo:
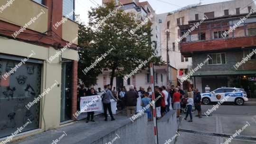
[[[40,94],[42,63],[0,54],[0,138],[39,128],[40,102],[28,103]]]

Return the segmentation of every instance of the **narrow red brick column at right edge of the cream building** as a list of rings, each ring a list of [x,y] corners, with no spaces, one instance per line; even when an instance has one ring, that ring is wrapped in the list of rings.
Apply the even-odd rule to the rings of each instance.
[[[73,61],[73,83],[72,83],[72,120],[76,120],[73,114],[76,113],[77,104],[77,61]]]

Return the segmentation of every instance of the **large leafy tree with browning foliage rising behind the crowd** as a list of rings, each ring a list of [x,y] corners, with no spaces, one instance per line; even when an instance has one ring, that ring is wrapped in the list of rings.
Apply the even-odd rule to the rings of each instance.
[[[110,85],[113,85],[115,76],[131,73],[143,61],[152,57],[154,53],[151,48],[152,23],[151,17],[145,17],[144,21],[136,21],[133,13],[123,12],[114,0],[104,5],[105,7],[92,8],[92,11],[89,11],[89,25],[83,29],[91,36],[88,47],[97,51],[96,58],[106,53],[97,68],[111,70]],[[90,52],[95,54],[93,51]],[[86,56],[83,56],[83,59],[82,63],[86,61]],[[149,62],[153,62],[154,65],[163,64],[161,57],[157,56]],[[85,68],[84,66],[82,67]],[[149,67],[149,63],[146,67]],[[100,68],[97,68],[98,72]]]

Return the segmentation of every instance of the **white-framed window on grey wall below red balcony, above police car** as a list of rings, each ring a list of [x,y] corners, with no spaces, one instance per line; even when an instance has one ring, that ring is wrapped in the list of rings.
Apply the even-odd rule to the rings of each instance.
[[[208,54],[211,59],[208,60],[208,65],[222,65],[226,64],[225,53],[212,53]]]

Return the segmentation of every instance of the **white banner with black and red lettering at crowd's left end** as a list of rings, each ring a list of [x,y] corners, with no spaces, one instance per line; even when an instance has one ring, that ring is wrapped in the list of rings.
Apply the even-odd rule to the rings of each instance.
[[[95,102],[92,102],[92,101]],[[90,112],[102,110],[102,102],[99,95],[83,96],[80,98],[80,110],[81,112]]]

